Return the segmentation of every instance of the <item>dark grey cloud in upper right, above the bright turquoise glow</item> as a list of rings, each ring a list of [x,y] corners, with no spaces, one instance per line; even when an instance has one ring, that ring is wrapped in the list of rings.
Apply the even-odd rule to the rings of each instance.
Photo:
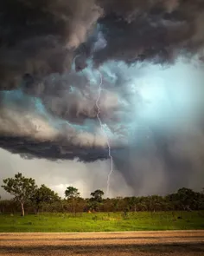
[[[94,58],[157,63],[194,54],[204,44],[204,3],[196,1],[100,1],[106,16],[99,20],[107,41]]]

